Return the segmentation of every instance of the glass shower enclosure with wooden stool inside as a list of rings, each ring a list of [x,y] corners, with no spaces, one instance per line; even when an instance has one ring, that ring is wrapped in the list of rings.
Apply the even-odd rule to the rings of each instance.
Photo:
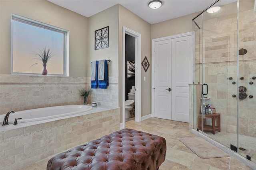
[[[192,128],[256,163],[255,0],[208,8],[192,20]]]

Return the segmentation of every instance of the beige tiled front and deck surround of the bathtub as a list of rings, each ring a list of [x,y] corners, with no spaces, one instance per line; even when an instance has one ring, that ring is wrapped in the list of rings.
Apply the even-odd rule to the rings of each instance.
[[[0,170],[21,168],[117,130],[120,108],[108,106],[93,107],[76,117],[1,126]]]

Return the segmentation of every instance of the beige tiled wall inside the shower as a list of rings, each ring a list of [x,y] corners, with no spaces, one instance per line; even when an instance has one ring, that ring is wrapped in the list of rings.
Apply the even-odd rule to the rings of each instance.
[[[256,12],[246,10],[239,13],[239,49],[248,52],[239,56],[237,81],[237,24],[236,14],[203,21],[204,68],[202,73],[201,43],[196,45],[196,76],[198,81],[208,84],[206,102],[221,113],[221,131],[237,133],[237,100],[239,100],[239,134],[256,137]],[[199,32],[199,31],[198,31]],[[196,33],[197,34],[197,33]],[[198,36],[198,35],[196,35]],[[198,40],[196,40],[198,42]],[[229,80],[233,77],[233,80]],[[236,84],[232,84],[232,82]],[[252,81],[253,84],[249,84]],[[198,83],[198,82],[195,82]],[[238,86],[247,88],[248,97],[238,99]],[[236,97],[232,97],[235,94]],[[249,98],[252,95],[253,98]]]

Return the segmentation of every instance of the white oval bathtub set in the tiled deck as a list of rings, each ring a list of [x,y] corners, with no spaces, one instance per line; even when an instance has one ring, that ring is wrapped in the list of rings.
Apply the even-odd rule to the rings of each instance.
[[[15,113],[10,113],[8,123],[13,124],[14,119],[22,118],[18,120],[18,123],[40,121],[46,119],[52,119],[56,117],[63,117],[68,115],[74,115],[78,113],[83,113],[92,109],[89,105],[66,105],[66,106],[54,106],[54,107],[43,107],[39,109],[30,109],[17,111]],[[0,115],[1,123],[4,120],[4,115]]]

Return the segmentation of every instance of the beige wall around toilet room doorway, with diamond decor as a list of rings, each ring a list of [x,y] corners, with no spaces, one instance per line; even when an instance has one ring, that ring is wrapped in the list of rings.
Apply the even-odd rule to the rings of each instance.
[[[141,66],[141,116],[151,113],[151,27],[150,23],[142,20],[123,6],[119,5],[119,102],[122,102],[122,27],[128,27],[141,34],[141,61],[146,56],[150,67],[147,72]],[[141,65],[141,63],[138,63]],[[143,80],[146,76],[146,81]],[[136,107],[136,106],[135,106]]]

